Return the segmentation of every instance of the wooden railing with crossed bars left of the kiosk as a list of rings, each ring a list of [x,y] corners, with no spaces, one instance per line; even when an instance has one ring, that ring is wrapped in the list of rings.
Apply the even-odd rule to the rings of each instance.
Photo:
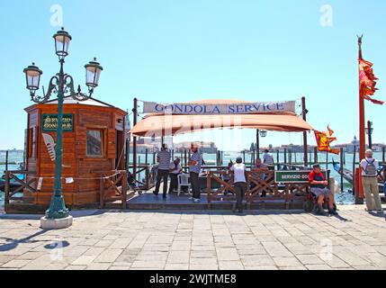
[[[24,190],[28,190],[31,193],[36,192],[36,188],[32,184],[36,184],[36,177],[31,176],[29,179],[28,171],[5,171],[5,199],[4,199],[4,209],[7,210],[7,205],[12,201],[22,201],[23,197],[16,196],[17,193],[22,193]],[[17,175],[24,175],[24,180],[20,179]],[[20,184],[20,187],[15,188],[11,191],[11,180],[15,181],[17,184]]]

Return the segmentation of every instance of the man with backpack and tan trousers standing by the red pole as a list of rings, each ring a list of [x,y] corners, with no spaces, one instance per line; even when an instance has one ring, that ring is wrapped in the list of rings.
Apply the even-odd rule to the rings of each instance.
[[[378,187],[379,162],[373,158],[373,150],[366,151],[366,157],[361,161],[362,184],[366,197],[367,211],[382,213],[382,202]]]

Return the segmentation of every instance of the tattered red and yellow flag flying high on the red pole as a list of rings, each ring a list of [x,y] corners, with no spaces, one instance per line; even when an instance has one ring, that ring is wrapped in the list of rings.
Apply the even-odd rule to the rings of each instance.
[[[371,97],[375,94],[375,91],[378,90],[375,88],[377,80],[378,78],[373,73],[373,63],[365,61],[362,57],[359,58],[359,83],[361,96],[375,104],[382,105],[383,101],[379,101]]]

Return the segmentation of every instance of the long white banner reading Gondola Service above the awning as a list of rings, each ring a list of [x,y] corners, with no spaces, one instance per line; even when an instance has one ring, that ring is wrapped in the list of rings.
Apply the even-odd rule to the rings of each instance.
[[[295,101],[279,101],[269,103],[154,103],[144,102],[144,113],[171,114],[251,114],[295,112]]]

